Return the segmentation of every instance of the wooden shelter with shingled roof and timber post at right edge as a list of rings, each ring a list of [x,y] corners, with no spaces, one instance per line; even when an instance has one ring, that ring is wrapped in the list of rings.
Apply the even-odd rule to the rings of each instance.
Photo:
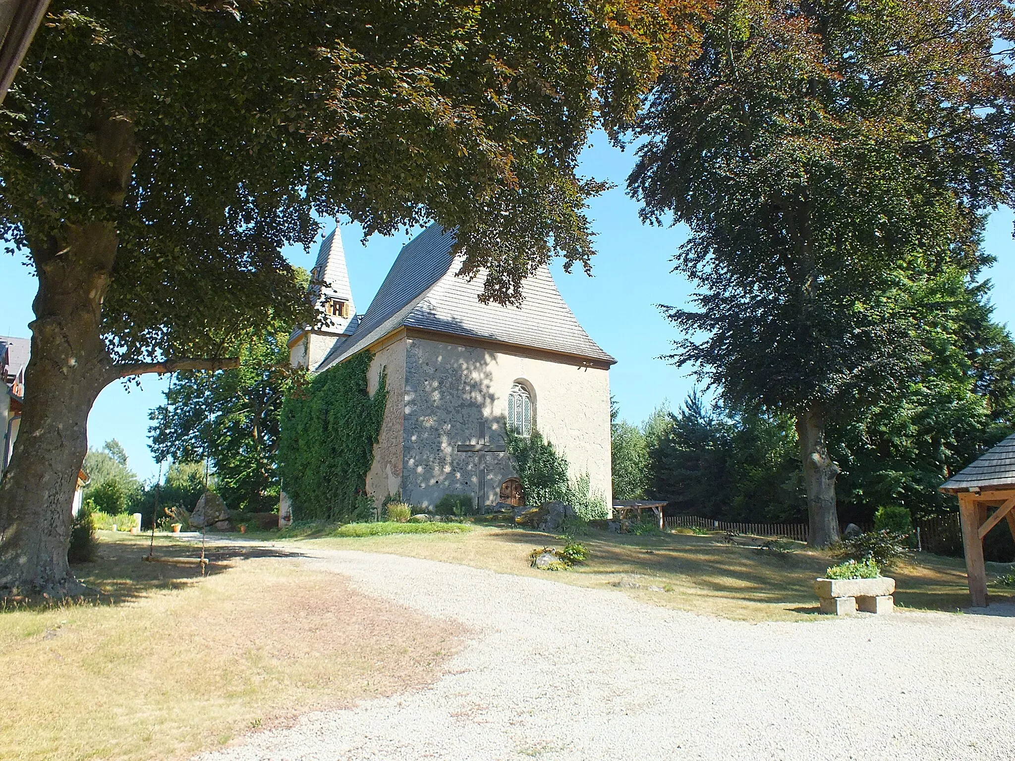
[[[974,606],[983,608],[987,605],[984,537],[1007,520],[1015,538],[1015,434],[945,481],[941,491],[958,497],[969,596]]]

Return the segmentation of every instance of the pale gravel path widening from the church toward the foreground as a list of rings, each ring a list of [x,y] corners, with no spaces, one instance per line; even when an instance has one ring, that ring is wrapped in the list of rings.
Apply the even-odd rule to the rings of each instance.
[[[304,714],[204,761],[1015,758],[1013,618],[752,625],[430,560],[314,555],[474,639],[428,689]]]

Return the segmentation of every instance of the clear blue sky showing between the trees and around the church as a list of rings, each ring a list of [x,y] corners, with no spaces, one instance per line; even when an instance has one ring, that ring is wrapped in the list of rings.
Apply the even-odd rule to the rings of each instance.
[[[590,217],[597,235],[593,276],[576,268],[564,274],[559,265],[553,275],[564,299],[592,338],[617,358],[610,372],[610,386],[620,404],[621,416],[639,422],[659,405],[679,405],[693,386],[684,370],[659,359],[670,350],[675,333],[656,304],[685,303],[691,287],[670,272],[670,258],[683,241],[682,227],[650,227],[641,224],[637,204],[623,193],[623,182],[634,156],[608,145],[605,136],[583,153],[584,175],[612,181],[617,187],[592,201]],[[1002,209],[990,219],[986,248],[998,258],[988,273],[994,280],[996,318],[1015,326],[1015,252],[1011,237],[1013,215]],[[322,229],[331,231],[333,221]],[[357,225],[342,225],[349,267],[349,280],[357,310],[365,312],[381,286],[399,250],[408,240],[404,234],[374,235],[365,245]],[[294,264],[310,269],[317,250],[285,251]],[[0,254],[0,335],[28,336],[36,278],[24,266],[24,258]],[[1007,294],[1007,295],[1006,295]],[[153,477],[158,465],[148,452],[148,411],[161,403],[166,382],[153,375],[141,379],[140,388],[115,384],[99,395],[88,418],[91,446],[118,439],[127,451],[129,464],[142,478]]]

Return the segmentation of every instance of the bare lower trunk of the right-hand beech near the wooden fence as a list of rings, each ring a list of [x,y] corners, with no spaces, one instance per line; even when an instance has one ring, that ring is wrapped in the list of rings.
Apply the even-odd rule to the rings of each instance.
[[[807,487],[807,515],[811,547],[827,547],[838,541],[838,513],[835,510],[835,477],[838,466],[828,457],[825,442],[825,413],[812,405],[797,417],[800,459]]]

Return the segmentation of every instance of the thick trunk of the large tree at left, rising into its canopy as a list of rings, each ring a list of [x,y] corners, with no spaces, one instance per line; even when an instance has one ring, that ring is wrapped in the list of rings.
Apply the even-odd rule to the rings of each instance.
[[[64,218],[29,248],[39,276],[24,412],[0,482],[0,593],[66,594],[71,501],[87,449],[88,412],[119,376],[101,337],[103,299],[116,261],[115,219],[138,150],[130,120],[94,81],[88,147],[75,155],[82,215]]]

